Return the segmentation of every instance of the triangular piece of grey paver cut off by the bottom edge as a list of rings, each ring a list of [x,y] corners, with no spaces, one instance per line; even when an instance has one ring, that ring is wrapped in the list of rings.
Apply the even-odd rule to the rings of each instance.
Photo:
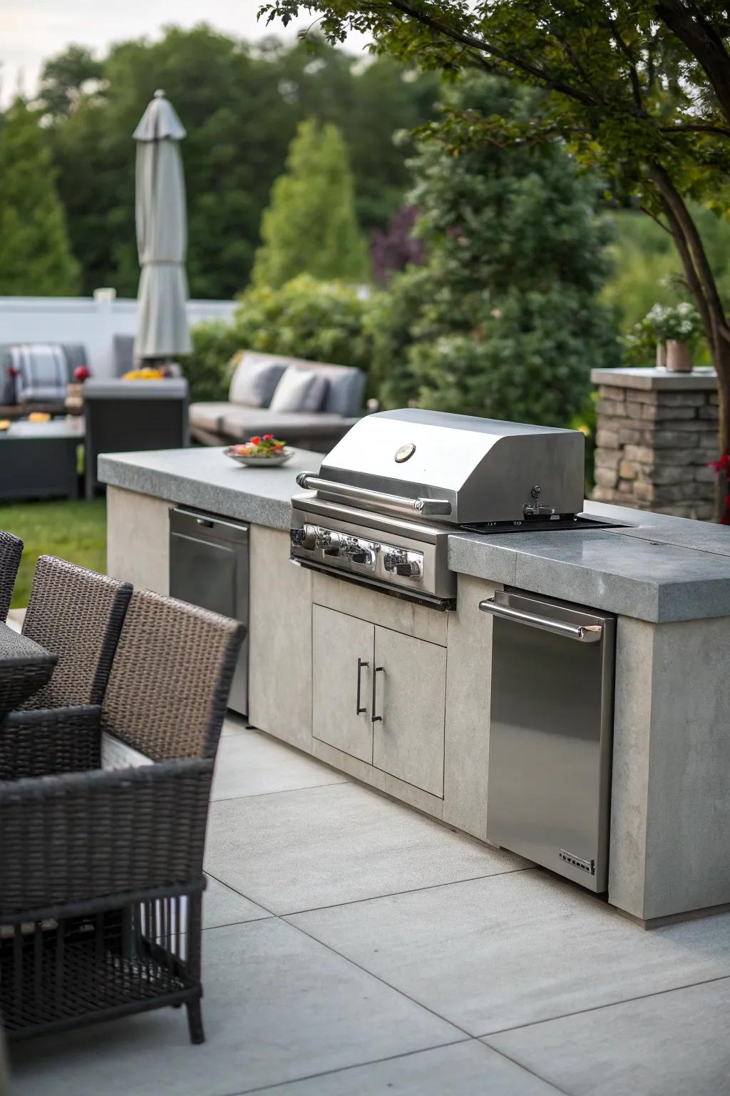
[[[339,1070],[262,1089],[266,1096],[556,1096],[541,1081],[478,1040]]]

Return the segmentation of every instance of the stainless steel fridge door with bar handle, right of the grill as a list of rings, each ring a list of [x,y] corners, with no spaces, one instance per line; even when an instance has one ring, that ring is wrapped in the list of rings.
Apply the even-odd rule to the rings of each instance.
[[[615,618],[503,591],[494,618],[487,841],[607,886]]]

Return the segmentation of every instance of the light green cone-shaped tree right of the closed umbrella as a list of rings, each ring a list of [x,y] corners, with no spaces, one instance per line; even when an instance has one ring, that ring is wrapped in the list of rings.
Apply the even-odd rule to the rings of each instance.
[[[302,122],[287,170],[271,187],[262,219],[255,285],[282,286],[298,274],[321,281],[368,277],[368,254],[355,217],[347,150],[335,126]]]

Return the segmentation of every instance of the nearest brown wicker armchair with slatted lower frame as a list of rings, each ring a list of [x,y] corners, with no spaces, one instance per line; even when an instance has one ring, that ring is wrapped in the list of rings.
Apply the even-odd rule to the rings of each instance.
[[[243,633],[227,617],[135,593],[101,719],[89,717],[96,753],[86,764],[96,764],[102,729],[151,763],[59,773],[79,719],[43,737],[45,763],[35,742],[13,751],[0,783],[0,1014],[9,1038],[184,1004],[190,1040],[204,1041],[202,853]],[[32,734],[22,718],[18,741]],[[39,768],[57,775],[37,776]]]

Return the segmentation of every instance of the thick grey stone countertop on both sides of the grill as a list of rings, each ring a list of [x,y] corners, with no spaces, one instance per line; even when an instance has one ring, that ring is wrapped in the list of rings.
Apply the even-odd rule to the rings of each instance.
[[[242,468],[220,448],[124,453],[101,456],[99,477],[111,487],[288,529],[297,472],[316,471],[321,459],[297,449],[281,468]],[[730,616],[730,527],[592,502],[586,511],[628,527],[456,532],[449,538],[449,564],[462,574],[641,620]]]

